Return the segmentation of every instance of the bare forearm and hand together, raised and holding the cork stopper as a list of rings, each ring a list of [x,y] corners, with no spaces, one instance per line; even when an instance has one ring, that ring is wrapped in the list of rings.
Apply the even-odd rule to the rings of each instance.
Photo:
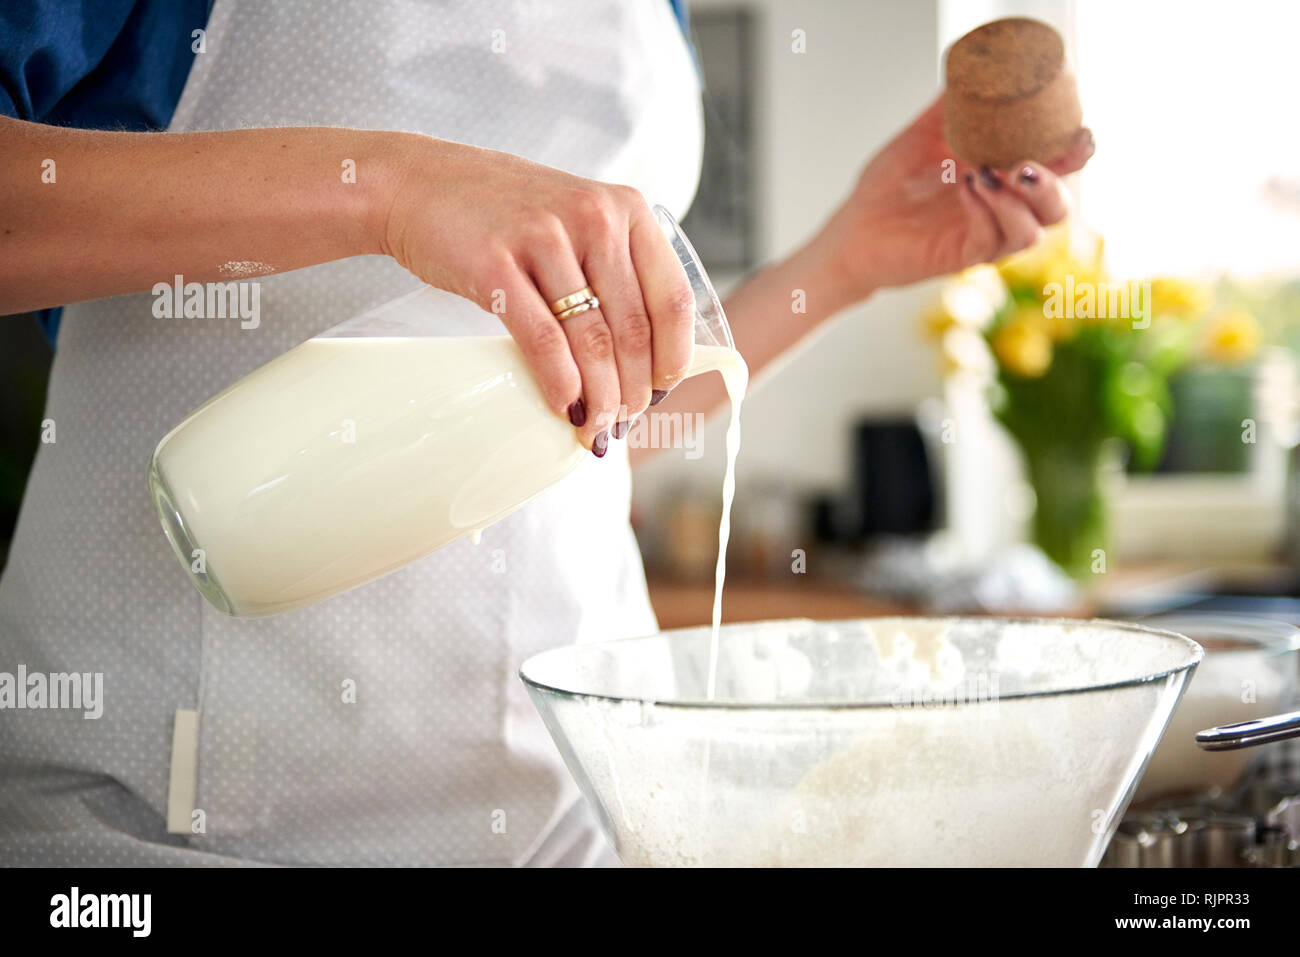
[[[1034,243],[1043,226],[1069,209],[1057,177],[1080,169],[1092,151],[1084,129],[1049,168],[974,169],[944,140],[942,98],[932,103],[867,164],[816,235],[727,298],[751,381],[822,322],[878,289],[946,276]],[[792,290],[806,293],[797,315]],[[725,398],[715,377],[697,376],[664,410],[708,411]],[[638,450],[638,456],[649,454]]]

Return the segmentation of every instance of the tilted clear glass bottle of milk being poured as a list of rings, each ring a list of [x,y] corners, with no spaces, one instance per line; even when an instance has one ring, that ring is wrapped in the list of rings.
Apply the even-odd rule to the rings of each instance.
[[[741,374],[694,250],[655,216],[696,294],[690,374]],[[274,615],[363,585],[477,534],[589,454],[514,339],[432,334],[430,293],[291,348],[159,443],[159,519],[213,606]]]

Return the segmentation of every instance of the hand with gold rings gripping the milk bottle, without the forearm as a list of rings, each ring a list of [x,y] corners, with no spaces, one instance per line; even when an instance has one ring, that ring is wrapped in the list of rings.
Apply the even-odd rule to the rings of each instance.
[[[546,402],[602,456],[686,374],[694,299],[642,195],[511,153],[399,134],[382,250],[500,316]],[[590,286],[567,320],[550,303]]]

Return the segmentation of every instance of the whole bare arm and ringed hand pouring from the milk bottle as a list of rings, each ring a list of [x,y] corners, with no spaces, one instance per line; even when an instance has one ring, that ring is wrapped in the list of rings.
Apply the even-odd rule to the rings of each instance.
[[[0,315],[372,252],[498,315],[597,456],[690,364],[690,286],[630,187],[419,134],[0,117]],[[586,285],[598,307],[551,315]]]

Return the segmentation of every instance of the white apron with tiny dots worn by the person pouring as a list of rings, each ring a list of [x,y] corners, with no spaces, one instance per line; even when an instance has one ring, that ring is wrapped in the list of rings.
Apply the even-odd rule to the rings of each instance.
[[[506,150],[677,215],[702,147],[667,0],[218,0],[172,129],[278,125]],[[0,713],[0,863],[610,862],[516,670],[558,644],[655,628],[625,446],[478,546],[312,609],[225,618],[152,512],[155,443],[235,378],[419,285],[380,256],[260,282],[257,329],[155,319],[148,294],[64,315],[56,442],[0,580],[0,671],[103,672],[104,711]],[[500,333],[450,295],[445,320],[447,334]],[[195,835],[164,824],[178,709],[199,711]]]

